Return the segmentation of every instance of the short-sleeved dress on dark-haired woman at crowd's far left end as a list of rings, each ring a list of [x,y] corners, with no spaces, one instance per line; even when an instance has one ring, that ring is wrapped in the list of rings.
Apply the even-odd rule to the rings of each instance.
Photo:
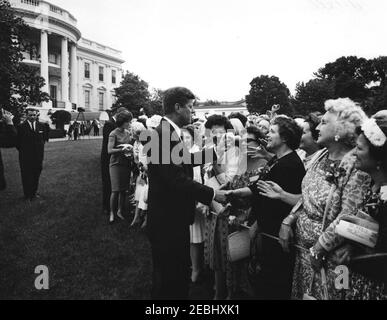
[[[116,148],[120,144],[131,142],[131,134],[128,130],[122,131],[117,128],[109,135],[109,144],[113,143]],[[112,154],[109,164],[112,192],[129,190],[130,186],[130,158],[122,153]]]

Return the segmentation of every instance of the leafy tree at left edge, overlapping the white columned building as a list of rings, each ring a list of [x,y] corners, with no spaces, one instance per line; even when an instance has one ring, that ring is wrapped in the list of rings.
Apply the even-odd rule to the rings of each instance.
[[[27,105],[49,101],[49,95],[40,90],[39,70],[22,63],[31,29],[6,0],[0,0],[0,30],[0,105],[19,117]]]

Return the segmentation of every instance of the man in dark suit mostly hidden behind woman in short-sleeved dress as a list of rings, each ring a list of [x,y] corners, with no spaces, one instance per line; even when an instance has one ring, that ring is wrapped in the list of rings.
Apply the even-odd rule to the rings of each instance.
[[[126,108],[115,108],[112,110],[112,117],[106,121],[102,131],[102,149],[101,149],[101,174],[102,174],[102,208],[106,215],[110,214],[110,194],[111,181],[109,173],[110,155],[107,152],[109,143],[109,134],[117,128],[116,115],[122,111],[128,111]]]

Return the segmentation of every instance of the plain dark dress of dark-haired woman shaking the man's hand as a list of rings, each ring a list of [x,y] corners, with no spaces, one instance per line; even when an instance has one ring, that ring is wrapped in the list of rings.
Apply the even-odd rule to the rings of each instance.
[[[305,175],[304,165],[296,152],[271,159],[261,173],[261,179],[273,181],[292,194],[301,193],[301,182]],[[256,183],[249,186],[253,192],[252,214],[259,231],[278,237],[283,219],[292,206],[281,200],[259,195]],[[265,235],[261,237],[259,252],[261,271],[256,277],[256,294],[259,299],[290,299],[294,266],[294,253],[282,250],[277,240]]]

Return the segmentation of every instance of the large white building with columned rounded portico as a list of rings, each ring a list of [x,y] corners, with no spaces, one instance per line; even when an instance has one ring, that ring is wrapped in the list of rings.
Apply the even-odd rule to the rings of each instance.
[[[77,107],[94,112],[110,109],[122,78],[121,52],[82,38],[77,20],[63,8],[41,0],[10,3],[32,27],[23,62],[40,69],[45,79],[42,90],[51,97],[40,106],[40,113]]]

